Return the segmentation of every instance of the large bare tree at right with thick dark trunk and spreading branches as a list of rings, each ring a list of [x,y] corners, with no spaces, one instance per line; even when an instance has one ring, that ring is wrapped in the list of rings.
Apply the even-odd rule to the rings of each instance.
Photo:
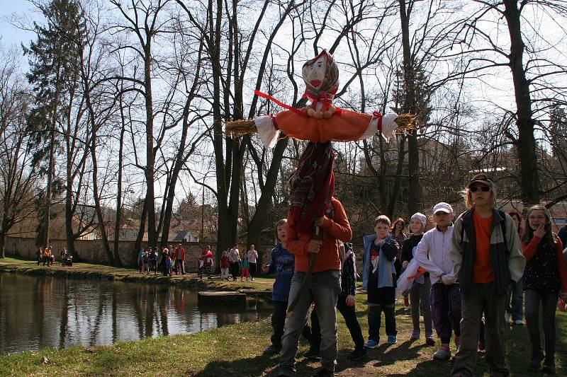
[[[567,2],[479,0],[472,3],[447,55],[464,57],[464,73],[474,79],[483,74],[493,78],[498,71],[510,70],[515,110],[505,110],[511,120],[504,122],[508,126],[504,132],[517,151],[522,202],[527,207],[539,203],[543,193],[535,136],[540,125],[537,114],[558,101],[564,103],[562,86],[554,78],[564,76],[567,65],[561,59],[562,52],[557,50],[561,39],[553,41],[551,30],[565,33],[565,26],[559,20],[567,15]],[[543,18],[538,18],[539,11]],[[549,28],[538,28],[539,22],[549,23]],[[502,41],[496,33],[500,35],[504,30],[508,37]],[[556,52],[558,59],[549,58],[551,52]]]

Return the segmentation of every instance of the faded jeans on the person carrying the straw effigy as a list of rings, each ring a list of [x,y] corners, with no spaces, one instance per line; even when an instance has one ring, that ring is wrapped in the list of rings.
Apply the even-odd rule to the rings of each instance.
[[[297,296],[299,286],[303,282],[305,272],[296,271],[291,279],[289,291],[289,302]],[[335,371],[335,360],[337,359],[337,298],[341,291],[341,272],[338,269],[330,269],[322,272],[314,272],[311,281],[299,298],[293,315],[286,320],[281,338],[282,349],[279,364],[279,373],[283,376],[296,375],[296,353],[299,345],[299,337],[311,303],[315,302],[317,316],[321,327],[321,366],[329,371]]]

